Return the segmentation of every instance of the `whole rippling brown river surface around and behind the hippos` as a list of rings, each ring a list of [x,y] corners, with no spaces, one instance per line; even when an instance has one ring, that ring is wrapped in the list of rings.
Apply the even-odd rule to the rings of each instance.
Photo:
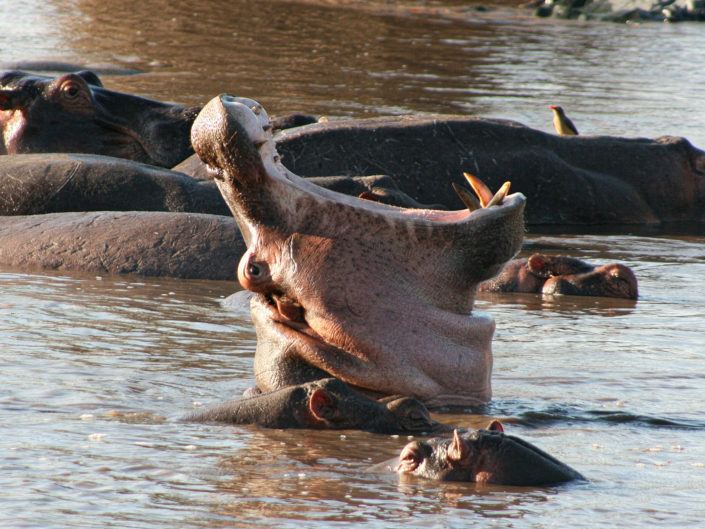
[[[584,134],[705,147],[703,25],[463,2],[2,6],[0,61],[93,65],[107,87],[157,99],[229,92],[275,115],[463,113],[545,131],[560,104]],[[537,250],[625,263],[640,299],[480,298],[497,322],[494,399],[437,418],[503,418],[588,483],[400,482],[366,469],[405,437],[179,423],[253,384],[247,311],[220,304],[236,283],[0,269],[0,527],[701,527],[705,234],[528,234],[524,253]]]

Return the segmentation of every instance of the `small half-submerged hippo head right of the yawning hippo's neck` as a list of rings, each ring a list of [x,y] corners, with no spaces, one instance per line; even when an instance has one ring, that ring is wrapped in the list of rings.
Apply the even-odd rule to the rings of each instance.
[[[546,295],[636,299],[637,280],[630,268],[611,263],[595,267],[580,259],[533,254],[514,259],[480,292],[534,292]]]

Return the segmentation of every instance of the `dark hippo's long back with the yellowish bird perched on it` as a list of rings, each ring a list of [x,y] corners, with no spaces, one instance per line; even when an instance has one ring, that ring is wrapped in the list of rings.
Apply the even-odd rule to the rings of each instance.
[[[316,123],[276,138],[303,176],[387,174],[419,202],[462,204],[467,171],[527,197],[529,225],[705,221],[705,153],[687,140],[558,136],[506,120],[394,116]]]

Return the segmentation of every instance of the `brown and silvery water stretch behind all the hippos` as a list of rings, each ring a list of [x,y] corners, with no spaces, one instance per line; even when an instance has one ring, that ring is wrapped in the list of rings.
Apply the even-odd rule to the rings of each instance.
[[[112,63],[146,73],[104,79],[111,89],[185,105],[236,93],[272,115],[462,113],[552,131],[558,104],[583,134],[705,146],[705,74],[688,62],[698,24],[545,21],[450,1],[51,6],[25,10],[27,31],[0,23],[0,59]]]

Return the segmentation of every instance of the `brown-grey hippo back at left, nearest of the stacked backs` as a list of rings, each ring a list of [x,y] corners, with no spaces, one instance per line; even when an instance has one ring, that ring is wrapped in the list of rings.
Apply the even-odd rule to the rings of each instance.
[[[97,274],[235,277],[245,250],[232,217],[100,211],[0,217],[0,265]]]

